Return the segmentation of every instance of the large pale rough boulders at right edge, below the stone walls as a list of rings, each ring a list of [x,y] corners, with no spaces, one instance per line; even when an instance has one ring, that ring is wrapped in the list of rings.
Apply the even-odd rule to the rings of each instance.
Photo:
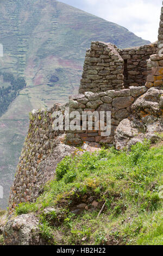
[[[158,139],[156,133],[163,131],[162,95],[162,89],[152,87],[133,103],[133,117],[122,120],[115,131],[116,149],[130,149],[145,138],[151,142]]]

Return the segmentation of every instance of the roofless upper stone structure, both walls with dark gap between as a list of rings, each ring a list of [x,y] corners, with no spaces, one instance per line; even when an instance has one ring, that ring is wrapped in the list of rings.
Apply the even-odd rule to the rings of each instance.
[[[147,60],[156,51],[156,43],[120,50],[109,43],[92,42],[86,51],[79,93],[144,86]]]

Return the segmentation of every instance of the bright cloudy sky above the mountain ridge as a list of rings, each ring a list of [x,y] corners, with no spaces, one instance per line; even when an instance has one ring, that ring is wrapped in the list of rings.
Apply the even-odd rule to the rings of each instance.
[[[58,0],[126,27],[143,39],[157,40],[162,0]]]

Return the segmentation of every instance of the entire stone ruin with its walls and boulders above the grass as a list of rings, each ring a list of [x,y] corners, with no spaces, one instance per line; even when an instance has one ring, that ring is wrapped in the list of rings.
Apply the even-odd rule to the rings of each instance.
[[[120,150],[151,139],[163,131],[163,7],[161,8],[158,43],[118,49],[105,42],[92,42],[86,51],[79,95],[64,105],[33,111],[30,126],[11,187],[9,212],[21,202],[33,202],[41,186],[53,178],[57,163],[85,143],[115,145]],[[162,47],[161,47],[162,48]],[[111,134],[102,130],[53,130],[54,111],[65,108],[78,111],[111,112]],[[104,120],[106,121],[106,120]],[[87,123],[87,119],[86,119]],[[95,119],[93,119],[95,124]],[[80,123],[82,126],[83,123]],[[65,136],[61,135],[65,133]],[[60,137],[58,137],[60,136]],[[58,141],[58,138],[59,141]],[[65,138],[65,141],[64,141]],[[69,144],[69,145],[68,145]]]

